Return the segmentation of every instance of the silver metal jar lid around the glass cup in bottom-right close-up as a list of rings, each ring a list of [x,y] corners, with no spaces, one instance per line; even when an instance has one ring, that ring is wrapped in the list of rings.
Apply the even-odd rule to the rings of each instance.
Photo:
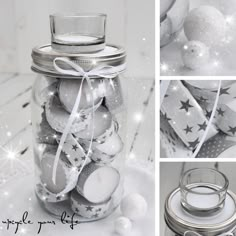
[[[186,231],[194,231],[203,236],[230,232],[236,226],[236,195],[228,190],[225,206],[217,217],[196,217],[181,207],[180,188],[177,188],[166,199],[165,221],[177,235],[184,235]]]

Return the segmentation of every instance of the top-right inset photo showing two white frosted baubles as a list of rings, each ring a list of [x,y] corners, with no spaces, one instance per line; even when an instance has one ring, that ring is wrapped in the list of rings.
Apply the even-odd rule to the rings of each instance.
[[[162,76],[234,76],[236,1],[160,0]]]

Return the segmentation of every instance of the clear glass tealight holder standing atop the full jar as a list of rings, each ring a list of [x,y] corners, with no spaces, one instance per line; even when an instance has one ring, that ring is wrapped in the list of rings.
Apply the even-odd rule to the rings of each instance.
[[[52,48],[66,53],[90,53],[105,48],[106,15],[50,15]]]

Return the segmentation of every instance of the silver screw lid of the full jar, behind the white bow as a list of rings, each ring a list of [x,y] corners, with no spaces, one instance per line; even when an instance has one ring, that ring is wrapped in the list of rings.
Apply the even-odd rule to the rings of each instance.
[[[58,73],[53,66],[53,61],[55,58],[66,57],[74,63],[80,65],[85,71],[89,71],[95,66],[100,65],[118,67],[125,64],[126,60],[126,53],[124,48],[116,45],[107,45],[102,51],[84,54],[61,53],[53,50],[51,45],[44,45],[33,48],[31,56],[33,59],[31,69],[33,71],[47,76],[63,76],[67,78],[73,78],[73,76],[62,75]],[[63,69],[71,69],[65,64],[61,64],[60,67],[62,67]],[[119,73],[123,72],[123,70],[124,68],[119,71]]]

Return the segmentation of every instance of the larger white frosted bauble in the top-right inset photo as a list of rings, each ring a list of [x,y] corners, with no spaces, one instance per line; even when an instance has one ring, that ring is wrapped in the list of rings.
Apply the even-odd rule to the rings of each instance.
[[[225,36],[225,18],[214,7],[200,6],[185,19],[184,32],[188,40],[200,41],[208,46],[217,45]]]

